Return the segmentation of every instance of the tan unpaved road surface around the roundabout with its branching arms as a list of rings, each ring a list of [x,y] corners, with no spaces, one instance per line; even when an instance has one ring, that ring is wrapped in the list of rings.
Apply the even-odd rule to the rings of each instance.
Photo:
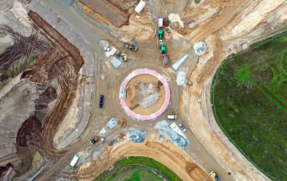
[[[270,24],[269,26],[275,27],[276,24],[272,24],[272,22],[281,21],[278,14],[282,14],[282,11],[285,12],[286,1],[276,2],[276,4],[264,0],[230,0],[224,2],[207,0],[202,1],[198,8],[192,8],[192,6],[197,6],[194,6],[193,3],[185,6],[182,5],[183,2],[173,4],[173,2],[166,1],[151,1],[150,5],[154,7],[152,11],[154,17],[159,15],[167,17],[169,13],[174,11],[184,12],[180,16],[184,16],[186,19],[188,18],[186,14],[198,15],[198,17],[202,15],[202,22],[196,24],[193,29],[186,29],[185,37],[181,37],[172,28],[167,30],[170,32],[167,36],[170,39],[166,39],[169,63],[172,65],[185,54],[191,57],[191,60],[185,61],[184,68],[189,72],[188,80],[194,84],[187,87],[178,87],[175,81],[176,72],[171,67],[163,67],[156,38],[145,43],[137,43],[137,52],[125,50],[130,56],[130,62],[123,62],[124,65],[120,69],[114,69],[111,63],[107,61],[99,41],[107,40],[119,47],[121,32],[95,23],[75,4],[67,8],[57,1],[42,0],[42,2],[87,40],[94,53],[95,78],[92,114],[85,132],[66,149],[67,151],[53,166],[40,173],[34,180],[46,180],[59,176],[91,180],[114,161],[128,155],[152,157],[172,169],[184,180],[211,180],[208,177],[211,170],[214,170],[221,177],[221,180],[269,180],[242,156],[219,129],[211,110],[210,88],[216,68],[227,54],[233,51],[233,45],[244,41],[252,43],[282,31],[281,25],[274,31],[272,28],[266,29],[259,18],[253,20],[255,25],[252,29],[245,30],[245,26],[249,25],[244,25],[244,17],[248,17],[248,14],[254,13],[254,11],[255,15],[256,13],[259,14],[260,5],[264,4],[270,6],[270,10],[265,13],[266,22]],[[209,8],[213,9],[212,11],[209,10],[212,12],[211,15],[205,15],[204,12],[208,11]],[[204,15],[206,17],[203,17]],[[242,30],[238,30],[240,26]],[[198,40],[206,42],[207,51],[199,59],[196,59],[197,57],[189,51],[193,51],[190,47]],[[229,49],[230,51],[228,51]],[[129,73],[139,68],[155,70],[169,82],[172,95],[171,103],[166,113],[156,120],[146,122],[134,120],[127,116],[119,103],[118,90],[122,81]],[[102,81],[99,75],[105,75],[105,80]],[[100,95],[105,96],[102,109],[98,107]],[[135,144],[131,141],[122,141],[110,150],[103,152],[105,153],[103,154],[105,160],[96,163],[92,170],[81,173],[61,171],[65,170],[72,155],[91,148],[89,141],[95,134],[98,134],[105,125],[105,121],[111,117],[126,119],[127,125],[125,128],[116,127],[113,130],[108,130],[105,135],[106,140],[114,139],[121,133],[128,132],[128,129],[135,127],[135,125],[138,129],[150,131],[156,122],[166,119],[167,114],[178,115],[176,123],[182,122],[186,125],[185,135],[190,141],[187,148],[179,149],[167,140],[160,143],[157,135],[149,134],[144,143]],[[98,142],[98,144],[100,143]],[[227,172],[231,172],[231,176]]]

